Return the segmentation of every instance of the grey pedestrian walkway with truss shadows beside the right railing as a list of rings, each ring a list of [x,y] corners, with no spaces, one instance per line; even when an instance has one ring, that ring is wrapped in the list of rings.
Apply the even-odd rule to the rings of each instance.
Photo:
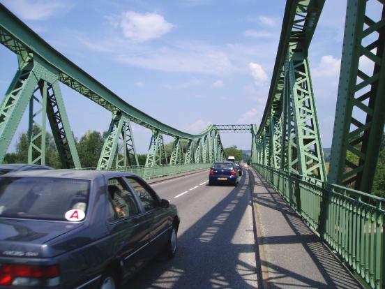
[[[263,287],[362,288],[280,195],[249,175]]]

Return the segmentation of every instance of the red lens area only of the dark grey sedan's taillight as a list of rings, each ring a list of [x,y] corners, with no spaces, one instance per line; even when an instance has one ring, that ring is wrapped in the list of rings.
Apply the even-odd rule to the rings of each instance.
[[[59,267],[31,265],[1,265],[0,285],[12,285],[17,277],[50,279],[59,276]]]

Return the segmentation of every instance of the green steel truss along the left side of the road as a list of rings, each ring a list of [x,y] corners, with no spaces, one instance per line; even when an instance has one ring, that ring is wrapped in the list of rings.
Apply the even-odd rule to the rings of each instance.
[[[211,125],[202,133],[191,135],[137,110],[54,50],[2,4],[0,42],[15,52],[19,60],[19,70],[0,105],[0,162],[29,104],[29,163],[45,163],[48,119],[62,167],[81,167],[59,82],[112,112],[112,121],[98,162],[100,170],[138,165],[131,122],[153,132],[146,166],[168,163],[164,154],[163,135],[169,135],[175,140],[169,165],[209,163],[224,156],[215,126]],[[41,99],[36,96],[38,91]],[[183,150],[183,140],[189,144],[187,151]]]

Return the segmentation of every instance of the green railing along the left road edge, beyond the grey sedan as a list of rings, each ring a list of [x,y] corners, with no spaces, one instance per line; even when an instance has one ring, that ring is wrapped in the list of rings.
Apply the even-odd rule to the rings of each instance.
[[[145,167],[144,165],[133,167],[113,167],[106,170],[119,170],[121,172],[133,172],[144,179],[153,179],[156,177],[165,177],[168,175],[181,174],[183,172],[193,172],[195,170],[204,170],[210,168],[211,163],[191,163],[188,165],[158,165],[155,167]],[[82,168],[80,170],[96,170],[96,168]]]

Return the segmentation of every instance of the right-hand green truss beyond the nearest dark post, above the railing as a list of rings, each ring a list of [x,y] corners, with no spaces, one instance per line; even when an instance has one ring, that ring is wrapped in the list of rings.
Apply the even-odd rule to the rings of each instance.
[[[308,177],[326,178],[308,65],[308,48],[324,1],[287,1],[256,160]]]

